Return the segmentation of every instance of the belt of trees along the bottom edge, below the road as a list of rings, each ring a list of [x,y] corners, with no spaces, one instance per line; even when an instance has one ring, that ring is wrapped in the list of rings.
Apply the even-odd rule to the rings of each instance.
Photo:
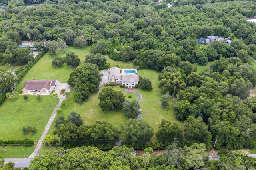
[[[172,144],[162,154],[154,155],[152,148],[146,148],[142,156],[135,156],[134,149],[114,147],[109,152],[102,152],[96,147],[76,147],[72,149],[46,150],[42,158],[35,157],[29,166],[32,169],[254,169],[256,159],[243,152],[219,152],[220,160],[210,160],[204,144],[193,144],[180,148]],[[76,162],[76,164],[74,164]],[[11,166],[2,165],[6,168]],[[12,165],[13,166],[13,165]]]

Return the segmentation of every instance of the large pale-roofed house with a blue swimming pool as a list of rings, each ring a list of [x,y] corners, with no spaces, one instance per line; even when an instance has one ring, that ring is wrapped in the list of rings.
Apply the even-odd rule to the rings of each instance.
[[[119,67],[110,68],[108,83],[124,84],[126,87],[134,87],[139,83],[139,74],[137,69],[122,69]]]

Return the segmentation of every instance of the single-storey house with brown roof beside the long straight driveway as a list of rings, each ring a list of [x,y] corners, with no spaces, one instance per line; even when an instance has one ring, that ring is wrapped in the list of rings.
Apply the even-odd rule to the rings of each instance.
[[[34,94],[47,94],[50,93],[50,90],[55,89],[58,84],[58,80],[29,80],[26,81],[24,87],[22,88],[23,93]]]

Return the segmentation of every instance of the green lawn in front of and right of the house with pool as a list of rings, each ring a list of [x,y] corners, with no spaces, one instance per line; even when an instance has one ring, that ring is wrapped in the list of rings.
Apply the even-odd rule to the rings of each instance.
[[[127,67],[126,67],[127,68]],[[136,89],[136,91],[142,94],[142,100],[140,101],[140,107],[143,112],[142,120],[149,123],[152,128],[154,129],[154,133],[158,130],[158,125],[162,121],[162,119],[166,119],[168,121],[178,122],[175,118],[174,111],[172,109],[171,101],[169,102],[170,105],[167,106],[165,109],[161,108],[161,90],[158,88],[158,75],[160,74],[158,71],[155,70],[148,70],[148,69],[140,69],[138,73],[143,76],[147,77],[152,81],[153,89],[150,91],[145,91],[141,89]],[[102,88],[105,88],[102,86]],[[116,91],[124,91],[124,88],[120,88],[119,86],[113,87]],[[128,98],[131,95],[132,98]],[[138,96],[136,94],[125,94],[126,99],[134,100],[137,99]],[[98,106],[98,94],[90,95],[86,101],[82,104],[78,104],[74,102],[73,92],[71,92],[71,97],[66,104],[66,108],[62,111],[65,117],[71,112],[75,111],[76,113],[80,114],[84,123],[93,124],[96,121],[108,121],[115,125],[118,129],[122,127],[124,121],[128,120],[128,118],[122,113],[121,111],[106,111],[102,112],[100,107]],[[178,122],[180,123],[180,122]],[[182,125],[182,123],[180,123]],[[55,127],[52,125],[50,129],[50,134],[54,131]]]

